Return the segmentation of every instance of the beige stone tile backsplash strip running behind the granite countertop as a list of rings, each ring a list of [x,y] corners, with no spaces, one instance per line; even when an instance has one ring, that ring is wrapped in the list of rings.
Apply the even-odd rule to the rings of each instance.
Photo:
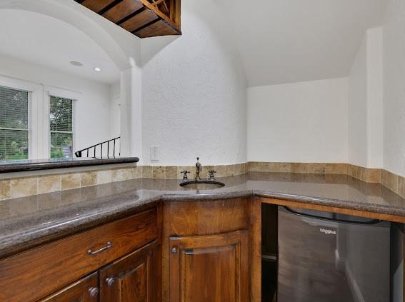
[[[71,188],[95,186],[135,178],[183,178],[181,171],[195,177],[195,166],[128,166],[99,171],[61,173],[48,176],[29,176],[0,180],[0,200],[64,191]],[[273,163],[251,161],[231,165],[203,166],[201,178],[209,170],[216,177],[237,176],[246,172],[285,172],[345,174],[369,183],[381,183],[405,198],[405,178],[379,168],[364,168],[349,163]]]

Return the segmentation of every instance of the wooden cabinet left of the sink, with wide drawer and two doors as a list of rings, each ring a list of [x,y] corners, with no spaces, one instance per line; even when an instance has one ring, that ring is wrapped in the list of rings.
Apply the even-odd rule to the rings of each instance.
[[[48,298],[43,301],[58,302],[90,302],[99,298],[101,301],[157,301],[154,297],[161,293],[158,285],[155,286],[161,283],[160,263],[156,260],[161,257],[158,255],[159,213],[159,208],[151,208],[4,258],[0,261],[0,301],[31,302],[44,297]],[[137,298],[103,298],[98,292],[99,283],[104,285],[98,271],[113,273],[118,280],[113,288],[120,284],[119,291],[133,291]],[[138,298],[142,286],[148,288],[145,299]],[[149,289],[153,293],[149,294]],[[102,291],[106,292],[104,295],[111,294],[105,288]]]

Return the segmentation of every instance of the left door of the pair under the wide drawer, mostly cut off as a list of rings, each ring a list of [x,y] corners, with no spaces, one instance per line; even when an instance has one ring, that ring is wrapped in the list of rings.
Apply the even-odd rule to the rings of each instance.
[[[49,296],[41,302],[97,302],[99,300],[99,278],[93,273]]]

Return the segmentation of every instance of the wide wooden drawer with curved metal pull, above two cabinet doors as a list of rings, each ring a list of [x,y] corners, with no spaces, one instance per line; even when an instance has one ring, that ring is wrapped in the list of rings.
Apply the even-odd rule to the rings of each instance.
[[[157,210],[0,261],[0,301],[37,301],[158,236]]]

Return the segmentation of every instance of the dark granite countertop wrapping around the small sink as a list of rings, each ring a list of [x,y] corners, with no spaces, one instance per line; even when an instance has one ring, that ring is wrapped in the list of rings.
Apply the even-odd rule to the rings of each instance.
[[[224,188],[181,188],[181,179],[107,183],[0,201],[0,258],[129,216],[159,200],[193,201],[261,196],[405,217],[405,199],[351,176],[258,173],[217,178]]]

